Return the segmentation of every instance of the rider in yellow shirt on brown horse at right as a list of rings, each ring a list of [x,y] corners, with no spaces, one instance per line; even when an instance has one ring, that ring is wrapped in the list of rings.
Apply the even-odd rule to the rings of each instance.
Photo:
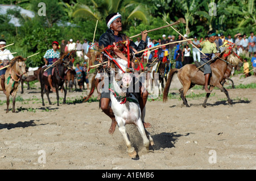
[[[208,37],[209,40],[205,40],[202,41],[200,44],[195,45],[197,48],[202,48],[201,52],[203,52],[204,54],[200,55],[200,63],[201,65],[207,63],[210,59],[212,59],[212,55],[213,53],[215,55],[220,55],[220,53],[217,53],[217,47],[216,44],[214,43],[214,41],[216,40],[216,32],[214,31],[209,31],[208,33]],[[189,40],[188,43],[192,44],[192,41]],[[204,65],[204,75],[205,75],[205,86],[204,89],[207,93],[210,93],[209,89],[208,89],[208,83],[209,83],[209,77],[210,74],[212,73],[212,69],[210,68],[210,64],[209,62],[207,64]]]

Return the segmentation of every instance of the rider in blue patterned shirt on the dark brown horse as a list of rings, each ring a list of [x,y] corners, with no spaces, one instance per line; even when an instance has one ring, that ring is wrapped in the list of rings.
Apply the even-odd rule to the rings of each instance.
[[[48,49],[46,53],[44,54],[44,62],[49,67],[53,64],[53,62],[57,61],[57,59],[60,58],[60,52],[57,51],[59,49],[59,43],[57,41],[52,42],[52,49]],[[48,82],[49,86],[51,87],[53,92],[56,92],[55,88],[52,86],[52,69],[53,66],[51,66],[49,69],[47,69],[48,74]]]

